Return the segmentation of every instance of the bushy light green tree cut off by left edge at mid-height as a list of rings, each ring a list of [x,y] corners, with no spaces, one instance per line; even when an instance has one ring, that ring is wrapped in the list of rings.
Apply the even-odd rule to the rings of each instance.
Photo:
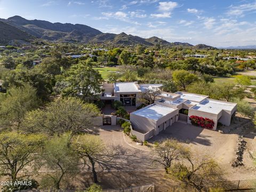
[[[0,93],[0,127],[10,128],[20,124],[27,111],[35,109],[39,100],[36,96],[36,89],[25,84],[22,87],[11,87],[6,94]]]

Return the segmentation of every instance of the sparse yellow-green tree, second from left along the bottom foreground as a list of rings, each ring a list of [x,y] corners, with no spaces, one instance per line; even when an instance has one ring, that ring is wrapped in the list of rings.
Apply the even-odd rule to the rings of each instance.
[[[47,165],[51,170],[58,170],[47,174],[46,178],[53,181],[55,189],[60,189],[63,177],[76,171],[78,156],[75,151],[68,147],[71,135],[54,135],[52,139],[45,142],[44,153],[42,153],[42,165]]]

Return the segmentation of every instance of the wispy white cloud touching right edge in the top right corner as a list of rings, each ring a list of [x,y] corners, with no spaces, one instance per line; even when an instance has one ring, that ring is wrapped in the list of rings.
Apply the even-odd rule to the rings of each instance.
[[[256,2],[237,5],[237,6],[231,5],[228,8],[229,10],[227,12],[227,15],[235,16],[235,17],[243,17],[246,13],[256,11]]]

